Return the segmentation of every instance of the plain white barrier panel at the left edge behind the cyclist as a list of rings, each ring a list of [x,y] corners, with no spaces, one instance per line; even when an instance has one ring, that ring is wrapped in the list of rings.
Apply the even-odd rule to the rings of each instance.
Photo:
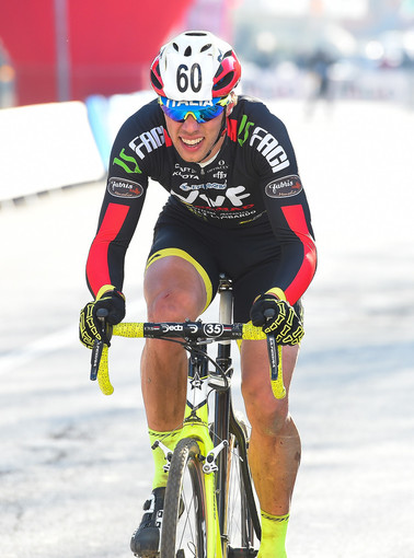
[[[83,103],[0,111],[0,200],[95,182],[104,175]]]

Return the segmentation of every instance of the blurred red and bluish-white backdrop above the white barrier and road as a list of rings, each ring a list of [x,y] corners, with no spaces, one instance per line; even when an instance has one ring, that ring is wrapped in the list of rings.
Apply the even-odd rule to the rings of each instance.
[[[0,106],[147,89],[159,46],[185,28],[233,44],[245,93],[301,98],[318,82],[335,98],[411,105],[413,23],[413,0],[2,2]]]

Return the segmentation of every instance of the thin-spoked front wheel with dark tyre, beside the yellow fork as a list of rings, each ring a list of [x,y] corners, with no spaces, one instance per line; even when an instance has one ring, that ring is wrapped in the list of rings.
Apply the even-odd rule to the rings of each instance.
[[[180,440],[165,489],[161,558],[207,558],[204,473],[196,440]]]

